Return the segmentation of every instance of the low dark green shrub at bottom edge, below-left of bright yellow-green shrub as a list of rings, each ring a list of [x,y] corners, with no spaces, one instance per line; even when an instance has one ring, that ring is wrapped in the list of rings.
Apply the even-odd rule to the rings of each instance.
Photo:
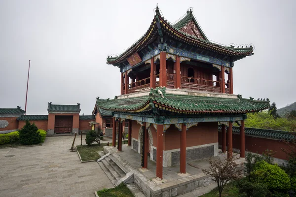
[[[238,188],[240,197],[266,197],[269,193],[267,186],[263,183],[253,183],[242,179],[238,181],[236,187]]]

